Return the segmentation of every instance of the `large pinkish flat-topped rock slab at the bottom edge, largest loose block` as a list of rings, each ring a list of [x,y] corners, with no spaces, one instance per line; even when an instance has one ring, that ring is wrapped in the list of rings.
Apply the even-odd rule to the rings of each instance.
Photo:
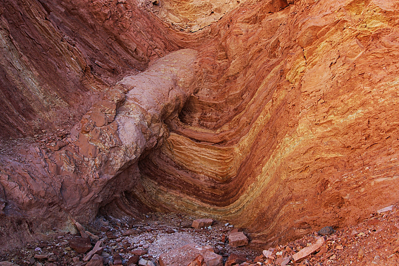
[[[206,266],[223,266],[223,260],[220,255],[213,252],[210,246],[200,247],[195,244],[189,244],[179,249],[172,250],[159,257],[160,266],[182,266],[189,265],[201,255]]]

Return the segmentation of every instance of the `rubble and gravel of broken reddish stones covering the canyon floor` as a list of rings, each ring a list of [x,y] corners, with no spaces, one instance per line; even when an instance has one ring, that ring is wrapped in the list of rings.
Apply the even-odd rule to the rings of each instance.
[[[5,254],[0,266],[159,266],[160,255],[193,243],[211,247],[221,258],[218,266],[399,265],[398,207],[376,210],[356,226],[336,231],[326,227],[263,251],[233,247],[229,237],[241,230],[225,221],[196,229],[192,225],[197,218],[182,214],[153,213],[141,221],[101,217],[86,229],[78,227],[80,233],[55,232],[45,241]]]

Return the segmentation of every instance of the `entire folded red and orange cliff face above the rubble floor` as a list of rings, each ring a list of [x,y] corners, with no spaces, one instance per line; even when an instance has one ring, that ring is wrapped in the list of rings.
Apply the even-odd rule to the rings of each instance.
[[[399,1],[248,0],[209,26],[193,11],[194,33],[161,4],[0,5],[1,136],[26,136],[2,147],[2,246],[156,210],[264,248],[397,201]],[[39,120],[73,128],[40,145]]]

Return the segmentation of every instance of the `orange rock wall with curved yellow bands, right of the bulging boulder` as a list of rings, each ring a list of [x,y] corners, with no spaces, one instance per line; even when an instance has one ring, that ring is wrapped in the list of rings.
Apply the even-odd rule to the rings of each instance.
[[[221,19],[199,49],[202,87],[140,161],[135,195],[233,221],[257,245],[396,201],[397,7],[247,3]]]

